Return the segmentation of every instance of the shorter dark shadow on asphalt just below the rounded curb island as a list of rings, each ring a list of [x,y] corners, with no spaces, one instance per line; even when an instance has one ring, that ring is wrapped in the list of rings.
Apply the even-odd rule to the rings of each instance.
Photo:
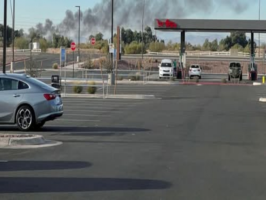
[[[0,172],[56,169],[81,169],[92,166],[83,161],[8,161],[0,163]]]

